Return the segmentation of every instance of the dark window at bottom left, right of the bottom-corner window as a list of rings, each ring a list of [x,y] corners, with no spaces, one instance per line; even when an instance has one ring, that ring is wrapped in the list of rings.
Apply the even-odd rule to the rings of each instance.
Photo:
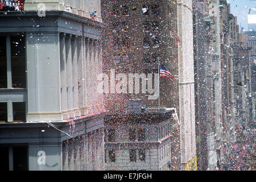
[[[13,170],[27,171],[27,147],[13,147]]]

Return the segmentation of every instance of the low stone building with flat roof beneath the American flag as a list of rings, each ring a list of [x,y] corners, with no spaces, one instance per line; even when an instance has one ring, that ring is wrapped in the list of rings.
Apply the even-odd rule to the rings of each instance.
[[[179,151],[179,137],[173,135],[178,123],[172,114],[173,109],[165,108],[107,114],[104,119],[105,169],[179,169],[179,154],[174,153]]]

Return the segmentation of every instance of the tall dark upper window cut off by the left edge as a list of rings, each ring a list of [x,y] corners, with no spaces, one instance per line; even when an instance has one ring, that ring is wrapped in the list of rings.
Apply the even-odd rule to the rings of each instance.
[[[0,89],[7,88],[6,37],[0,36]]]

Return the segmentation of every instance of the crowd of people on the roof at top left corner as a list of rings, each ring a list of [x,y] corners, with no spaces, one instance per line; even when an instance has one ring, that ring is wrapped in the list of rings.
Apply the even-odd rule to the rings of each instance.
[[[23,11],[25,0],[0,0],[0,11]]]

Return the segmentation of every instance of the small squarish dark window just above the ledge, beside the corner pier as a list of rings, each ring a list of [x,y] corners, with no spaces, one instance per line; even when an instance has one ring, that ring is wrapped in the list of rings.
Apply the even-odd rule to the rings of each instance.
[[[25,102],[13,102],[13,121],[26,121],[26,106]]]

